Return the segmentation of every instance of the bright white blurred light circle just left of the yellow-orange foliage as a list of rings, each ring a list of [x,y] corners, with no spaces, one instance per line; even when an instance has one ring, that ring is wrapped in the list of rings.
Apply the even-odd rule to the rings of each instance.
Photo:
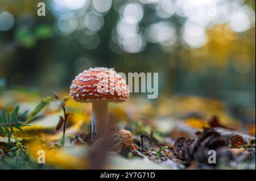
[[[182,39],[190,48],[200,48],[207,42],[207,34],[204,27],[195,23],[186,23],[183,27]]]

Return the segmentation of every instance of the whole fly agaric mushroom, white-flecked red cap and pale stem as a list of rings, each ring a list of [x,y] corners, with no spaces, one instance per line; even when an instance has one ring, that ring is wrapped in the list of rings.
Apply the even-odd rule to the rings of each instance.
[[[125,102],[130,94],[125,79],[108,68],[90,68],[78,74],[70,87],[72,99],[92,102],[92,138],[110,131],[108,103]]]

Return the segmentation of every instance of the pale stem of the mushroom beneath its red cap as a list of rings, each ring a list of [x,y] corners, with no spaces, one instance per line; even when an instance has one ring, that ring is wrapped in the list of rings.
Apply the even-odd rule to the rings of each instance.
[[[108,102],[93,102],[92,107],[92,140],[94,136],[104,136],[109,131]]]

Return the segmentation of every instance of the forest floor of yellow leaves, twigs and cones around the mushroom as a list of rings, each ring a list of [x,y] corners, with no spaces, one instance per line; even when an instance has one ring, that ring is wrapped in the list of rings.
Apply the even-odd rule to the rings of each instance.
[[[236,115],[197,96],[134,97],[109,104],[113,139],[92,144],[92,104],[65,95],[0,92],[0,169],[255,169],[255,110]]]

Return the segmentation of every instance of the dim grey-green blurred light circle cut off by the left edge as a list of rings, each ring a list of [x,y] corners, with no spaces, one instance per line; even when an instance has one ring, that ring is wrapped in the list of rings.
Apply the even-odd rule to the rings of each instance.
[[[3,11],[0,13],[0,31],[7,31],[13,28],[14,17],[8,11]]]

